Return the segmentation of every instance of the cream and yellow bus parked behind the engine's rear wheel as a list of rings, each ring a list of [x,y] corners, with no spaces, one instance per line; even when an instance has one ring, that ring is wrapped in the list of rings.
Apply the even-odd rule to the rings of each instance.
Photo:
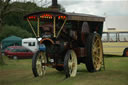
[[[128,56],[128,31],[105,31],[102,41],[104,54]]]

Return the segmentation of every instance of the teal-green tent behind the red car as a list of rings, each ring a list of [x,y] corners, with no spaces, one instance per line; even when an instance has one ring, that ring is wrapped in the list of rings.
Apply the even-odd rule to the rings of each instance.
[[[2,50],[8,46],[21,46],[22,38],[16,36],[10,36],[2,40]]]

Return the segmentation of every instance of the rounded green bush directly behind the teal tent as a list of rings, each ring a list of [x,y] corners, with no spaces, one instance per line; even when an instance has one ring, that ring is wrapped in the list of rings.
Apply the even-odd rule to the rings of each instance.
[[[4,30],[0,33],[0,40],[11,35],[15,35],[22,38],[32,37],[31,33],[22,29],[21,27],[5,25],[3,28]]]

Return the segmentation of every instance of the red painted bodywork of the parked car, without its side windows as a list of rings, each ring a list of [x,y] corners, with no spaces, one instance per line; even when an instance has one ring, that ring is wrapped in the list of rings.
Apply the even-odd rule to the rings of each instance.
[[[17,56],[18,58],[32,58],[33,52],[30,50],[28,52],[12,52],[12,50],[17,50],[17,49],[26,49],[25,47],[22,46],[10,46],[8,47],[10,49],[5,50],[5,55],[7,55],[9,58],[12,58],[13,56]],[[26,49],[28,50],[28,49]]]

